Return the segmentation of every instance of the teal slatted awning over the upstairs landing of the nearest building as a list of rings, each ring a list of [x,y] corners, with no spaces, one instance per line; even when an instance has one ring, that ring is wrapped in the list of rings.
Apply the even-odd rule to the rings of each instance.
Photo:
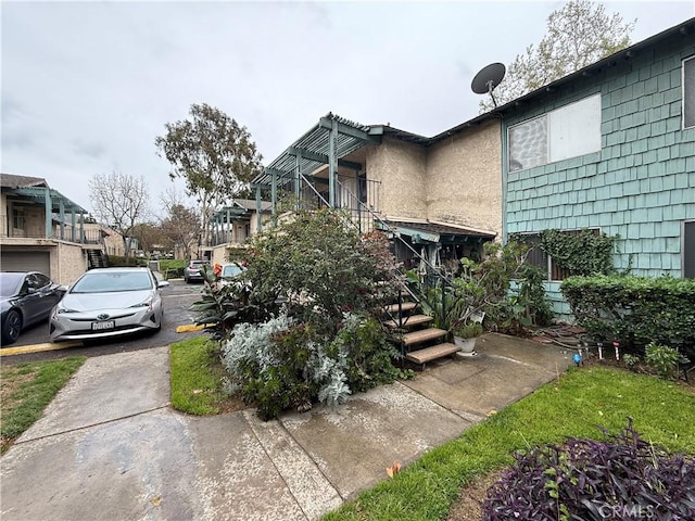
[[[328,165],[330,160],[331,130],[336,130],[336,156],[338,166],[356,171],[364,165],[343,160],[357,149],[370,143],[379,143],[383,129],[351,122],[328,113],[321,117],[304,136],[294,141],[275,161],[267,165],[263,174],[256,176],[254,186],[270,186],[276,176],[278,186],[291,182],[296,177],[296,167],[303,175],[309,175],[317,168]]]

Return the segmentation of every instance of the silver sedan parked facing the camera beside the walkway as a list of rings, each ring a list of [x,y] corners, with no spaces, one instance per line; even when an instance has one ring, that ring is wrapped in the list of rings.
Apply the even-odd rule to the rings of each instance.
[[[164,308],[149,268],[97,268],[83,274],[51,312],[51,341],[159,331]]]

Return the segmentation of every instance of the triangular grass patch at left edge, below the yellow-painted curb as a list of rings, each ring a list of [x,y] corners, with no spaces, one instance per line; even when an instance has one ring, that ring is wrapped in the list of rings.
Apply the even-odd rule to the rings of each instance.
[[[85,363],[85,356],[3,364],[0,370],[0,454],[43,414],[46,406]]]

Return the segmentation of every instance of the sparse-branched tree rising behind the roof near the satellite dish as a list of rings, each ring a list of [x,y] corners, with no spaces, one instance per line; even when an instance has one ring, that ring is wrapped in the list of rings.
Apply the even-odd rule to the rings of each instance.
[[[494,91],[502,105],[568,74],[591,65],[630,45],[636,21],[624,23],[618,13],[606,14],[602,4],[570,0],[547,18],[547,34],[538,47],[527,47],[507,67],[505,79]],[[480,111],[494,107],[480,102]]]

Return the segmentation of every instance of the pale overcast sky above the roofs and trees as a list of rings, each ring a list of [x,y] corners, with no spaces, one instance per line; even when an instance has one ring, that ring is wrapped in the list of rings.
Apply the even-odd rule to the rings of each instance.
[[[154,139],[192,103],[245,126],[264,164],[328,112],[434,136],[478,114],[475,74],[563,4],[3,0],[1,169],[88,211],[94,174],[144,176],[157,213],[184,185]],[[633,43],[695,16],[693,0],[605,4],[636,18]]]

